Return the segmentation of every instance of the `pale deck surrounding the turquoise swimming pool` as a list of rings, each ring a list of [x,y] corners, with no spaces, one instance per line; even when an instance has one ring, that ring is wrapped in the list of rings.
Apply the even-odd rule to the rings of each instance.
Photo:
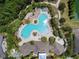
[[[53,32],[53,31],[52,31],[52,28],[51,28],[50,25],[49,25],[49,20],[51,19],[51,16],[48,14],[48,9],[47,9],[47,8],[44,9],[44,10],[45,10],[45,11],[47,10],[47,12],[42,12],[41,9],[39,9],[39,8],[38,8],[38,9],[35,9],[35,11],[36,11],[35,13],[37,13],[37,11],[38,11],[38,13],[35,14],[35,16],[32,16],[32,12],[30,12],[30,13],[28,13],[28,14],[25,16],[24,19],[28,19],[29,17],[31,17],[31,19],[35,19],[35,18],[39,17],[39,16],[38,16],[38,15],[39,15],[39,11],[40,11],[41,13],[46,13],[46,14],[48,15],[48,19],[45,20],[44,23],[47,24],[47,26],[48,26],[48,31],[47,31],[47,32],[44,32],[44,33],[40,33],[40,32],[37,31],[37,36],[36,36],[36,37],[34,37],[33,35],[30,35],[29,38],[24,39],[24,38],[21,36],[21,31],[22,31],[22,29],[23,29],[25,26],[27,26],[27,24],[21,25],[20,28],[19,28],[19,31],[18,31],[18,37],[21,38],[22,41],[19,43],[19,46],[21,46],[23,43],[29,42],[29,41],[31,41],[31,40],[40,41],[40,38],[41,38],[42,36],[46,36],[46,37],[53,36],[53,34],[52,34],[52,32]],[[32,32],[31,32],[31,33],[32,33]],[[27,39],[28,39],[28,40],[27,40]]]

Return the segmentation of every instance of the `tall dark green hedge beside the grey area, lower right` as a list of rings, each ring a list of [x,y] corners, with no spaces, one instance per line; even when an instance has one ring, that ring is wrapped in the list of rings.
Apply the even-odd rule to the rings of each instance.
[[[67,43],[68,43],[68,47],[67,47],[67,51],[66,54],[68,56],[72,56],[74,55],[74,38],[73,38],[73,34],[72,33],[68,33],[66,34],[66,39],[67,39]]]

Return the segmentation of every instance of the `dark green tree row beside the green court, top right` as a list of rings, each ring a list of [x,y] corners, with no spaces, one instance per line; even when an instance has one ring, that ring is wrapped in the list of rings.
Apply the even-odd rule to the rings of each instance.
[[[75,12],[78,13],[79,8],[76,6],[76,4],[78,5],[78,3],[76,3],[75,0],[69,0],[68,1],[69,17],[70,17],[70,19],[73,19],[75,17]]]

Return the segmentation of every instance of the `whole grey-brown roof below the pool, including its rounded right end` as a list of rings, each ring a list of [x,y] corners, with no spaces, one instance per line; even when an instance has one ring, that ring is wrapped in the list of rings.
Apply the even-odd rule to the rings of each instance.
[[[55,53],[57,55],[60,55],[63,53],[64,46],[62,46],[58,43],[55,43],[54,47],[53,47],[53,46],[49,45],[49,42],[35,41],[34,45],[31,45],[30,43],[25,43],[24,45],[19,47],[23,56],[29,55],[30,52],[32,52],[32,51],[34,51],[34,54],[38,54],[39,52],[49,53],[50,50],[52,51],[56,48],[58,49],[58,52],[55,51]]]

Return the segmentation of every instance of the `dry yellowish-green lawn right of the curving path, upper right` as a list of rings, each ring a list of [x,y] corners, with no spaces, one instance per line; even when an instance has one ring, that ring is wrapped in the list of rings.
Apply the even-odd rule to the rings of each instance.
[[[66,5],[66,8],[64,10],[64,13],[62,14],[62,17],[64,17],[66,19],[66,22],[65,22],[65,25],[69,25],[71,26],[72,28],[79,28],[79,21],[76,20],[76,19],[69,19],[69,16],[68,16],[68,0],[61,0],[61,2],[65,3]]]

